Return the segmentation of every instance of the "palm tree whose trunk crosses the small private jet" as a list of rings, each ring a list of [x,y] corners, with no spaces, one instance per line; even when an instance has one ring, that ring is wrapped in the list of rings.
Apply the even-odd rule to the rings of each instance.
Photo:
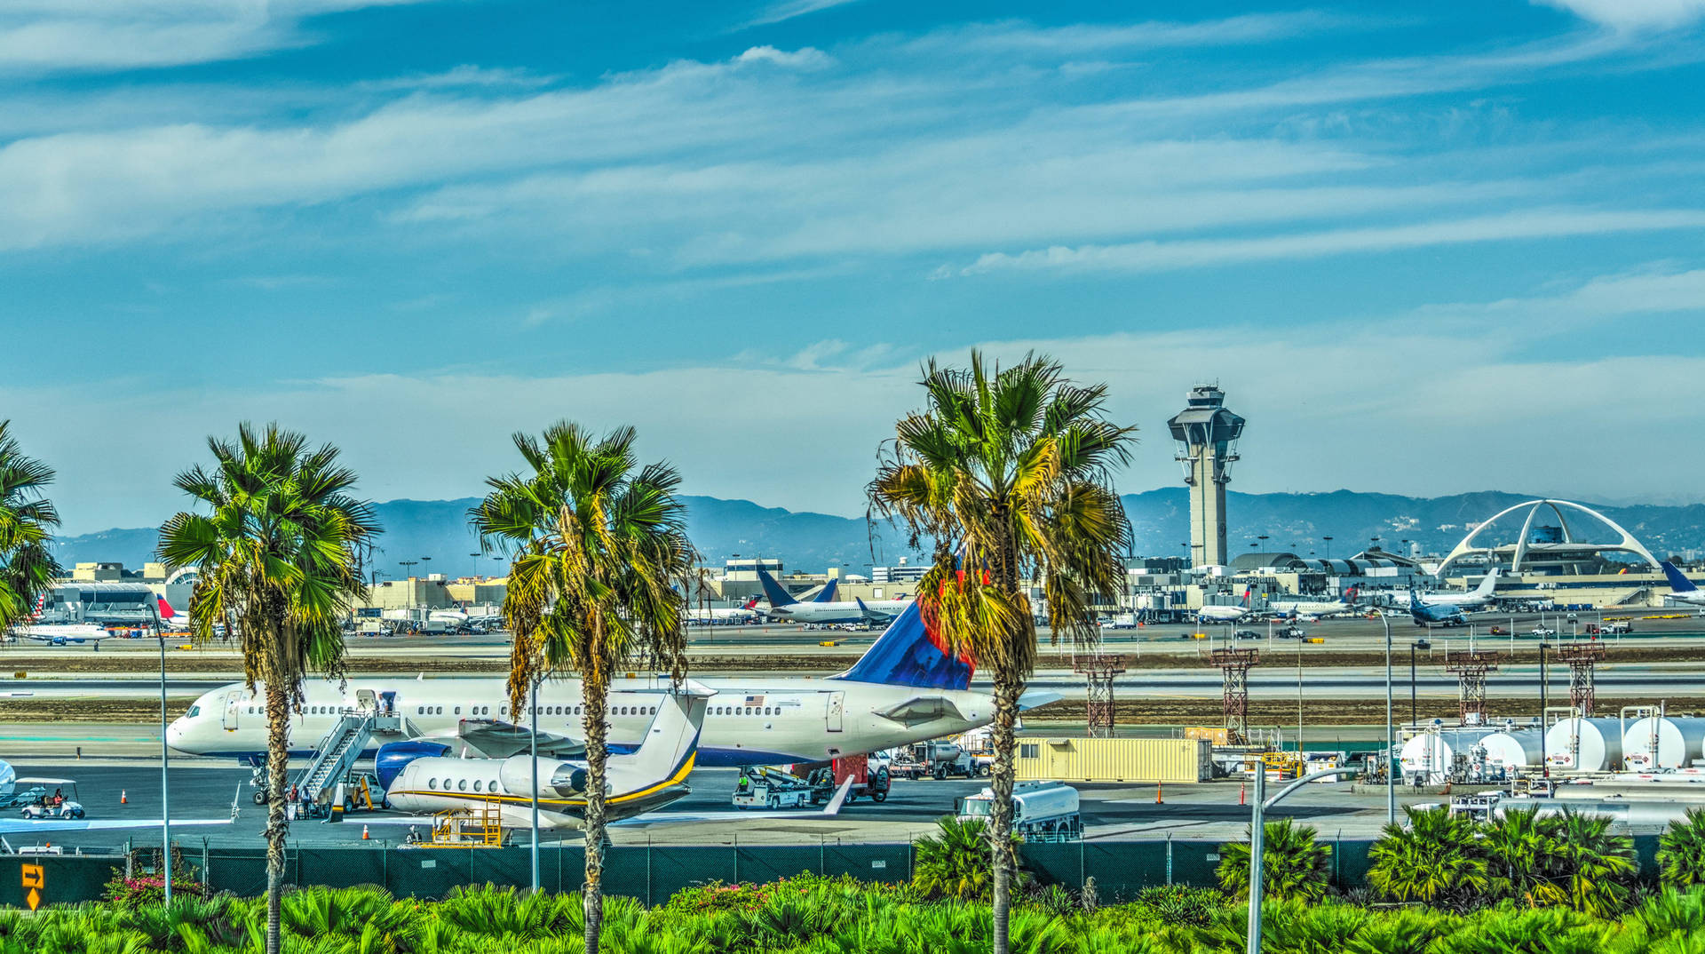
[[[604,923],[605,708],[610,679],[633,657],[685,676],[682,616],[692,573],[680,474],[639,466],[634,430],[593,437],[561,422],[542,439],[515,435],[530,473],[494,476],[469,512],[481,546],[512,555],[503,618],[510,649],[510,708],[522,712],[534,681],[580,674],[587,736],[587,954]]]

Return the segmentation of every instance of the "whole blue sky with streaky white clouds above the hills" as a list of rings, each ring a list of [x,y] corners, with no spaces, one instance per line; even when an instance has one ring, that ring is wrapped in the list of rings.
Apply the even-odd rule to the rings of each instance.
[[[568,416],[851,514],[980,345],[1112,384],[1124,490],[1207,379],[1240,490],[1700,497],[1705,0],[1118,12],[15,0],[0,416],[72,532],[239,418],[375,498]]]

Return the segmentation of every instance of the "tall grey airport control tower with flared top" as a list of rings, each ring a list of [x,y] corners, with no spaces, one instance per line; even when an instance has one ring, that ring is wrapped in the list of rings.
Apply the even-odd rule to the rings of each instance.
[[[1190,404],[1171,427],[1183,481],[1190,485],[1190,560],[1197,567],[1231,561],[1226,553],[1226,485],[1238,459],[1243,418],[1224,408],[1226,393],[1212,384],[1190,389]]]

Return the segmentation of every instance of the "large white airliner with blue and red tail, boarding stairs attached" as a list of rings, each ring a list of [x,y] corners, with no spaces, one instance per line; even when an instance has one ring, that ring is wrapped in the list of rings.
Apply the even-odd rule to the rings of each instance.
[[[829,761],[955,736],[987,725],[994,700],[970,691],[974,666],[941,649],[916,608],[846,672],[820,678],[706,679],[716,689],[699,739],[697,765],[742,766]],[[663,703],[668,679],[617,679],[609,698],[612,751],[633,751]],[[174,749],[256,761],[266,753],[264,688],[257,698],[240,683],[205,693],[167,727]],[[455,744],[464,720],[530,724],[510,713],[506,679],[365,678],[303,684],[302,713],[292,717],[292,754],[309,754],[344,712],[384,710],[402,717],[401,732],[375,734],[373,744],[442,741]],[[1025,700],[1040,705],[1040,695]],[[580,737],[580,679],[546,681],[539,689],[539,729]]]

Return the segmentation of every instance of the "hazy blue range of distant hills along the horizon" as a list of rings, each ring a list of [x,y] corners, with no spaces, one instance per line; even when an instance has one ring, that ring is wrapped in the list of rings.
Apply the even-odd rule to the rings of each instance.
[[[1398,550],[1400,539],[1420,543],[1425,553],[1442,553],[1468,532],[1466,524],[1485,521],[1499,510],[1531,500],[1519,493],[1458,493],[1451,497],[1398,497],[1391,493],[1231,493],[1226,500],[1233,553],[1250,550],[1267,534],[1265,550],[1313,550],[1325,556],[1323,536],[1332,536],[1332,553],[1349,556],[1366,550],[1369,538]],[[685,497],[687,529],[708,563],[721,563],[735,555],[772,556],[788,568],[822,572],[846,567],[861,572],[866,563],[910,561],[924,553],[907,551],[905,534],[878,524],[871,531],[861,517],[835,517],[760,507],[750,500]],[[1124,497],[1125,514],[1136,536],[1136,553],[1147,556],[1182,556],[1190,539],[1188,495],[1182,486],[1149,490]],[[421,560],[411,572],[464,575],[493,573],[498,561],[474,556],[479,541],[467,529],[467,510],[476,498],[462,500],[389,500],[377,503],[379,522],[385,527],[379,539],[377,565],[387,575],[401,575],[401,560]],[[1584,502],[1592,505],[1591,502]],[[1598,507],[1628,527],[1659,556],[1705,548],[1705,505],[1627,505]],[[140,567],[152,560],[155,529],[111,529],[61,538],[56,543],[65,565],[94,560],[118,560]]]

